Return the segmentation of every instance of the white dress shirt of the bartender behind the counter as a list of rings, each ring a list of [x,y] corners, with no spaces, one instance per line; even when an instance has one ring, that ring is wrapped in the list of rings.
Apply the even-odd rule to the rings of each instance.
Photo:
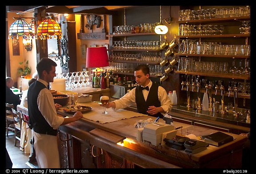
[[[147,101],[148,93],[152,86],[152,81],[150,81],[147,86],[148,86],[149,90],[144,89],[142,91],[145,101]],[[146,86],[143,86],[143,87],[146,87]],[[127,107],[131,106],[132,104],[136,104],[135,90],[136,90],[136,88],[133,88],[129,93],[126,93],[119,100],[113,101],[116,104],[116,108],[114,110],[116,111],[118,109],[127,108]],[[165,113],[163,113],[163,114],[170,112],[172,109],[171,100],[170,100],[166,90],[162,86],[158,87],[158,99],[160,101],[161,107],[164,109]]]

